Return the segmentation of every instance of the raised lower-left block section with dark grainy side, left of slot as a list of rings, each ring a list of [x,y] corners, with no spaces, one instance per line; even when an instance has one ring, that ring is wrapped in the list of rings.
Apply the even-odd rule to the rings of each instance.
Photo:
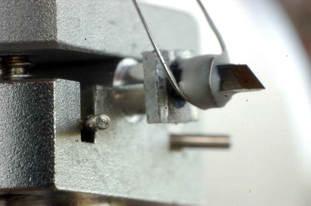
[[[80,88],[65,80],[0,83],[0,190],[55,186],[55,138],[80,138]]]

